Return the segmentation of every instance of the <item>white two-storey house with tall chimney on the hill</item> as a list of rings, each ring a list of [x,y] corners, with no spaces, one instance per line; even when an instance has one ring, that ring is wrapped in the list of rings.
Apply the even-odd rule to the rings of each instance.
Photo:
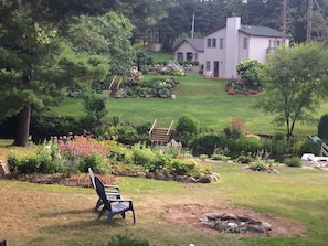
[[[285,43],[288,45],[289,40],[286,39]],[[226,19],[225,26],[203,36],[203,54],[198,51],[198,61],[203,65],[204,74],[232,78],[237,76],[236,65],[241,61],[253,58],[266,62],[267,55],[275,53],[275,49],[282,44],[282,32],[267,26],[242,25],[240,17],[231,17]],[[189,45],[187,41],[181,42],[174,50],[174,58],[179,60],[180,53],[180,60],[186,60],[181,53],[189,51]]]

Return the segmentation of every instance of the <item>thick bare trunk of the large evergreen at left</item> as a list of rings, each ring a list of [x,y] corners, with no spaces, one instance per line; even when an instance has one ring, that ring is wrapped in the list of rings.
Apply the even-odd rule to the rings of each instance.
[[[18,117],[18,131],[14,139],[14,146],[25,147],[29,142],[31,120],[31,104],[27,104]]]

